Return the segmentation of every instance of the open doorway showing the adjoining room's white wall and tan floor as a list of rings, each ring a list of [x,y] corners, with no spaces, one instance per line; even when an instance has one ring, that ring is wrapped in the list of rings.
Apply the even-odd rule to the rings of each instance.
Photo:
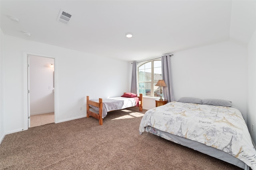
[[[54,59],[28,55],[28,127],[54,123]]]

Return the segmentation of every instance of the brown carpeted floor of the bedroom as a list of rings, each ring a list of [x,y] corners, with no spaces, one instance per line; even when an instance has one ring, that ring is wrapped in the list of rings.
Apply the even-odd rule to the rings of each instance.
[[[1,170],[241,170],[150,133],[139,135],[142,113],[130,107],[94,117],[32,127],[6,135]]]

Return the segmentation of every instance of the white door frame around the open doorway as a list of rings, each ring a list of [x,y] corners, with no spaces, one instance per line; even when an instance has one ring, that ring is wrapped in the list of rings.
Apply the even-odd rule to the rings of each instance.
[[[29,84],[28,84],[28,55],[36,55],[36,56],[40,56],[40,57],[47,57],[47,58],[52,58],[54,59],[54,122],[58,122],[58,82],[57,80],[57,57],[53,57],[53,56],[47,56],[47,55],[42,55],[42,54],[37,54],[37,53],[31,53],[31,52],[23,52],[23,91],[24,91],[24,98],[23,98],[23,112],[24,112],[24,130],[28,130],[29,127],[29,118],[28,116],[30,116],[30,103],[28,102],[29,98],[28,98],[28,88],[29,88]]]

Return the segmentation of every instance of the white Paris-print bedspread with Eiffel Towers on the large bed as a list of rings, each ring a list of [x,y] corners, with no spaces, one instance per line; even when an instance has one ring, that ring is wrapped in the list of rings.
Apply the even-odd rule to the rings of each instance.
[[[234,107],[170,102],[145,113],[140,134],[147,126],[227,152],[256,170],[250,133]]]

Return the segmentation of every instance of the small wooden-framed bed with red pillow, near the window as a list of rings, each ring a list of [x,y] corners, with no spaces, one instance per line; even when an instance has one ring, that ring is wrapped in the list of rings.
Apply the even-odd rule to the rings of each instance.
[[[103,124],[103,118],[109,111],[120,110],[128,107],[139,107],[142,111],[142,94],[124,93],[121,97],[90,100],[86,97],[86,113],[87,117],[95,117],[99,120],[99,124]]]

